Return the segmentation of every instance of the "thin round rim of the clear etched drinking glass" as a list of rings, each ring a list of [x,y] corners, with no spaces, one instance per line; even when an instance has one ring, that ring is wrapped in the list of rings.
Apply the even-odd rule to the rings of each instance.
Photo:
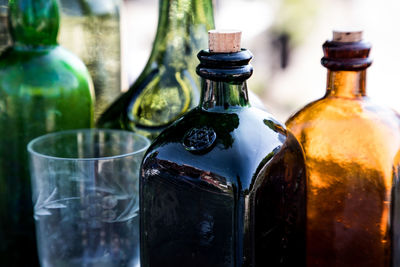
[[[40,141],[42,141],[44,139],[47,139],[47,138],[50,138],[50,137],[53,137],[53,136],[57,136],[57,135],[61,136],[61,135],[79,133],[79,132],[83,132],[83,133],[88,133],[88,132],[124,133],[124,134],[129,134],[131,136],[139,137],[140,139],[145,141],[145,145],[143,146],[143,148],[141,148],[139,150],[135,150],[135,151],[129,152],[129,153],[118,154],[118,155],[115,155],[115,156],[98,157],[98,158],[65,158],[65,157],[56,157],[56,156],[50,156],[50,155],[46,155],[46,154],[37,152],[35,149],[33,149],[33,146],[37,142],[40,142]],[[136,154],[140,154],[140,153],[146,151],[149,148],[150,144],[151,144],[151,142],[147,137],[145,137],[145,136],[143,136],[141,134],[134,133],[134,132],[125,131],[125,130],[115,130],[115,129],[89,128],[89,129],[74,129],[74,130],[58,131],[58,132],[54,132],[54,133],[48,133],[48,134],[41,135],[39,137],[36,137],[36,138],[32,139],[28,143],[27,150],[31,155],[35,155],[37,157],[44,158],[44,159],[63,160],[63,161],[104,161],[104,160],[125,158],[125,157],[129,157],[129,156],[134,156]]]

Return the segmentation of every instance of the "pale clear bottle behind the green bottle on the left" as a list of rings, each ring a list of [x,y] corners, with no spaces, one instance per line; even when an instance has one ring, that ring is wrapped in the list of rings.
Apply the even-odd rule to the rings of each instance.
[[[61,0],[60,44],[83,60],[93,78],[95,117],[121,93],[119,0]]]

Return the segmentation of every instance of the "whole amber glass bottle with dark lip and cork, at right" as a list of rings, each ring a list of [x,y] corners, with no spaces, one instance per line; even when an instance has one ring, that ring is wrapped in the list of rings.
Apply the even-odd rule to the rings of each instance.
[[[307,266],[400,266],[400,120],[366,96],[371,45],[335,32],[323,45],[326,95],[291,117],[308,167]]]

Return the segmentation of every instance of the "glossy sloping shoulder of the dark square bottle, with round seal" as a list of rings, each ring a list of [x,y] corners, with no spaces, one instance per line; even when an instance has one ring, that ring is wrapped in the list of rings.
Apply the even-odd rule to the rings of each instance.
[[[173,123],[153,142],[146,161],[166,161],[215,173],[249,188],[254,176],[287,144],[283,125],[256,108],[227,113],[196,108]],[[302,157],[299,144],[290,141]],[[290,150],[290,149],[289,149]]]

